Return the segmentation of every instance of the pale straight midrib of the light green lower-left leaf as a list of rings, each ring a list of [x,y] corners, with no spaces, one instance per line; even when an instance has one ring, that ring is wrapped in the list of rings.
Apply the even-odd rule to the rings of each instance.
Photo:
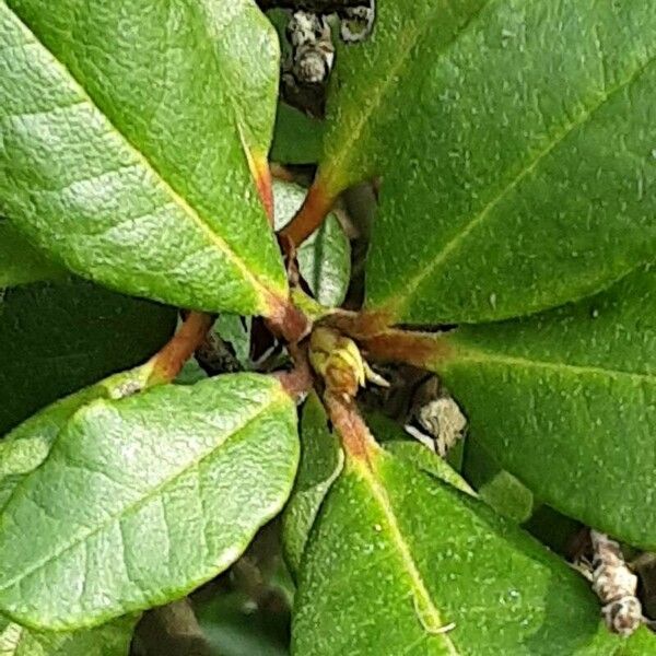
[[[190,462],[185,464],[185,467],[183,469],[179,469],[178,471],[176,471],[172,476],[167,477],[166,479],[164,479],[163,481],[161,481],[160,483],[157,483],[157,485],[155,485],[155,488],[145,491],[145,493],[142,494],[139,499],[137,499],[137,500],[132,501],[131,503],[129,503],[128,505],[121,507],[116,513],[113,513],[112,515],[107,516],[101,524],[98,524],[97,526],[95,526],[91,530],[82,531],[81,534],[77,535],[74,537],[74,539],[70,540],[68,543],[66,543],[62,547],[60,547],[56,552],[54,552],[54,553],[51,553],[51,554],[43,558],[38,562],[34,563],[27,570],[25,570],[25,571],[16,574],[11,579],[9,579],[8,582],[5,582],[2,585],[0,585],[0,593],[7,590],[8,588],[10,588],[12,586],[14,586],[16,583],[20,583],[21,581],[23,581],[27,576],[31,576],[35,572],[38,572],[39,570],[43,570],[44,567],[47,567],[52,561],[57,560],[59,557],[61,557],[62,554],[65,554],[67,551],[70,551],[71,549],[74,549],[74,548],[79,547],[80,544],[83,544],[91,537],[93,537],[96,534],[105,530],[106,528],[108,528],[109,526],[112,526],[115,522],[120,520],[122,517],[127,516],[132,511],[139,508],[141,504],[147,503],[147,502],[151,501],[152,499],[154,499],[160,492],[162,492],[171,483],[175,482],[179,477],[185,476],[186,473],[188,473],[192,469],[195,469],[198,466],[200,466],[203,462],[203,460],[206,460],[206,458],[210,458],[213,455],[215,455],[216,450],[220,449],[227,441],[232,440],[233,437],[237,436],[239,433],[242,433],[243,431],[245,431],[248,427],[249,424],[251,424],[253,422],[257,421],[266,412],[274,409],[277,406],[280,406],[281,409],[282,409],[283,405],[286,401],[288,401],[288,397],[283,393],[281,393],[281,394],[273,393],[272,396],[271,396],[271,400],[267,405],[258,408],[257,412],[255,412],[254,414],[251,414],[250,417],[248,417],[238,426],[236,426],[235,429],[233,429],[233,431],[230,434],[225,435],[224,438],[220,443],[218,443],[218,444],[214,443],[212,445],[212,447],[210,448],[209,452],[206,452],[200,457],[197,457],[194,460],[191,460]],[[106,403],[106,400],[101,400],[98,402],[99,403]],[[46,458],[46,461],[48,459],[49,459],[49,456],[48,456],[48,458]],[[30,476],[24,477],[21,480],[21,482],[19,483],[19,487],[12,491],[10,500],[4,504],[3,512],[7,511],[7,507],[9,506],[9,504],[11,503],[11,501],[13,501],[14,495],[16,495],[16,493],[23,492],[23,490],[22,490],[22,483],[24,483],[24,481],[28,480],[28,478],[30,478]],[[25,495],[25,497],[30,499],[26,495]]]

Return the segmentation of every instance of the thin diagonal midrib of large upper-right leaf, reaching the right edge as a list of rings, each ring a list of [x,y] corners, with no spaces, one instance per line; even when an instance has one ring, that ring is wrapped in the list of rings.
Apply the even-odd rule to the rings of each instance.
[[[575,130],[586,125],[595,114],[604,107],[616,94],[620,93],[628,86],[631,86],[636,79],[639,79],[648,68],[654,63],[656,57],[652,56],[640,65],[633,73],[625,78],[622,82],[616,84],[609,92],[601,95],[600,101],[591,106],[589,109],[583,112],[577,120],[570,121],[564,130],[562,130],[555,139],[551,140],[542,150],[535,154],[534,159],[507,183],[503,184],[499,194],[490,200],[485,207],[476,214],[460,232],[456,233],[449,242],[447,242],[442,250],[440,250],[432,260],[422,262],[422,269],[409,280],[403,281],[403,290],[401,292],[395,292],[390,294],[385,303],[385,306],[390,308],[395,316],[400,316],[405,308],[413,300],[413,295],[417,292],[421,283],[432,276],[440,265],[444,263],[448,259],[450,254],[456,250],[465,242],[467,236],[481,223],[484,222],[488,214],[505,198],[505,196],[514,190],[525,178],[527,178],[534,171],[536,171],[539,164],[549,156],[561,143],[563,143],[570,134]],[[398,298],[397,298],[398,296]]]

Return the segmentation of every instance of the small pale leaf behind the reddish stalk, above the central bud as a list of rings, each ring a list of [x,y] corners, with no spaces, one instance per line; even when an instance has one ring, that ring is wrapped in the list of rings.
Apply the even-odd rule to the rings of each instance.
[[[273,184],[276,230],[284,227],[294,216],[306,190],[292,183]],[[327,307],[340,305],[351,279],[351,246],[335,214],[329,214],[321,226],[298,248],[301,276],[315,298]]]

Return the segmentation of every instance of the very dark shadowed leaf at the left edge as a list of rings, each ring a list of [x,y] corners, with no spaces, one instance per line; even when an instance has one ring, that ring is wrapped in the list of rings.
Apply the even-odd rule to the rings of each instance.
[[[79,280],[8,290],[0,303],[0,435],[56,399],[144,361],[173,335],[176,315]]]

